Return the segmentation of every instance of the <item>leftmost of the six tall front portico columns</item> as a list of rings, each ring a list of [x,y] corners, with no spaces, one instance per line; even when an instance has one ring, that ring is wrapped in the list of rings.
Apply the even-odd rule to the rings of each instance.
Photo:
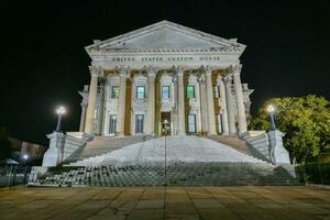
[[[92,134],[94,121],[95,121],[95,105],[97,99],[98,91],[98,76],[100,75],[101,69],[96,66],[90,66],[90,85],[88,92],[88,106],[86,113],[86,123],[85,132]]]

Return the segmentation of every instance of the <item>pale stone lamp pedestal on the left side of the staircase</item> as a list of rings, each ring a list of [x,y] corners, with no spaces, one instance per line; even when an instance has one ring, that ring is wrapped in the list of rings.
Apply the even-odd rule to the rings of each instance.
[[[50,148],[44,154],[43,166],[57,166],[63,160],[66,134],[54,131],[48,134],[47,138],[50,139]]]

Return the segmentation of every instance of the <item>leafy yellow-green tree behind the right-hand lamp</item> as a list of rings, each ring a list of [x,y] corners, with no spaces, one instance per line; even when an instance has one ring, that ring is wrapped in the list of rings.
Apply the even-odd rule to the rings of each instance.
[[[251,129],[270,128],[266,106],[275,106],[275,122],[278,130],[285,132],[284,145],[292,158],[298,163],[318,161],[330,152],[330,108],[323,97],[273,98],[258,110],[250,123]]]

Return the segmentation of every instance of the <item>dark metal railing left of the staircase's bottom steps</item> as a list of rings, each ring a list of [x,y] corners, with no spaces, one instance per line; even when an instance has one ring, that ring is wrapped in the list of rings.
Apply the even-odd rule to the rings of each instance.
[[[11,187],[26,184],[30,172],[30,166],[0,166],[0,187]]]

